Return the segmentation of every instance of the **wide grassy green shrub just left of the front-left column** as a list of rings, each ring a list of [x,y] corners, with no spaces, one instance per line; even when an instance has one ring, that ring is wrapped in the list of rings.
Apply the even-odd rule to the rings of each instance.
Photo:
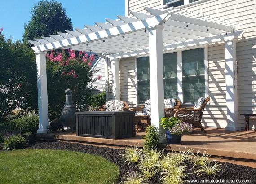
[[[23,117],[0,123],[0,130],[5,132],[14,131],[16,133],[36,133],[38,130],[38,116]]]

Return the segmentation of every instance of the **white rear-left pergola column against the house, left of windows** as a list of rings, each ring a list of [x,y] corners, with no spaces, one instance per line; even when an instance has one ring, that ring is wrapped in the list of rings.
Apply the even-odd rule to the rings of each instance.
[[[119,61],[120,59],[115,59],[114,61],[111,61],[113,100],[120,100]]]

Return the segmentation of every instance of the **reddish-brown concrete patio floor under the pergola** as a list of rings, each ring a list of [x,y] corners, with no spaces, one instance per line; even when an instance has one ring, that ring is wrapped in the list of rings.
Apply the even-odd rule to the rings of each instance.
[[[203,153],[204,150],[217,158],[224,158],[223,161],[248,165],[256,168],[256,131],[226,131],[225,129],[206,128],[207,133],[203,134],[200,128],[194,129],[190,135],[182,136],[181,145],[166,145],[162,147],[168,150],[183,151],[194,149],[194,153]],[[75,133],[58,132],[48,134],[37,134],[41,140],[62,140],[80,142],[95,145],[108,146],[143,146],[145,132],[136,133],[135,137],[125,139],[102,139],[93,137],[78,137]],[[232,162],[233,162],[232,161]],[[239,163],[238,163],[239,162]]]

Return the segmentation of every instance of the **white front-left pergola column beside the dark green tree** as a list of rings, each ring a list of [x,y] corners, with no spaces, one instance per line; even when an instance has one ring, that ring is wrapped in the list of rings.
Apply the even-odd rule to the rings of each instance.
[[[38,94],[38,114],[39,129],[37,133],[46,133],[48,122],[48,96],[47,96],[47,77],[46,77],[46,58],[44,53],[36,53],[37,66],[37,94]]]

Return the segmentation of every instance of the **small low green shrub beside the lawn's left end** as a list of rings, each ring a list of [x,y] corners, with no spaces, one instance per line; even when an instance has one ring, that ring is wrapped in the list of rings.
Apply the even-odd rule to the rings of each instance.
[[[4,141],[4,149],[19,149],[26,145],[26,138],[21,135],[15,135]]]

